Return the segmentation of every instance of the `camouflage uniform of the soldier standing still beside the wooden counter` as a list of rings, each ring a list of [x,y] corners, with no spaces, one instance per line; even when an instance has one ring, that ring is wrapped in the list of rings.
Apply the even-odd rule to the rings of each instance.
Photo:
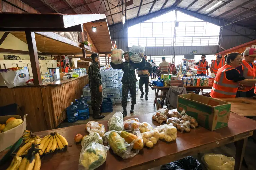
[[[99,65],[93,61],[88,69],[89,87],[91,89],[91,106],[93,111],[99,111],[102,103],[102,92],[99,92],[101,83],[101,74]]]

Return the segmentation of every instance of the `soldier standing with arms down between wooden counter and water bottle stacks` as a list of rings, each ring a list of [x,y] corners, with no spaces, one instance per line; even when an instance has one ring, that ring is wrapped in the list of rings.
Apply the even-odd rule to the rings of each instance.
[[[99,58],[97,54],[92,54],[92,64],[88,68],[89,87],[91,89],[91,106],[93,110],[94,119],[102,119],[105,116],[99,114],[102,103],[102,83],[101,74],[99,70]]]

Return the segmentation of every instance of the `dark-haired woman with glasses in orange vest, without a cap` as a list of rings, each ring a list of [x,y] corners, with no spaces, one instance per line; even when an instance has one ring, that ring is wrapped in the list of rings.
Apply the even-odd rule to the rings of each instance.
[[[217,71],[210,94],[212,98],[235,98],[239,83],[244,86],[253,86],[256,83],[256,79],[245,79],[235,69],[242,63],[239,53],[226,55],[225,62],[226,64]]]

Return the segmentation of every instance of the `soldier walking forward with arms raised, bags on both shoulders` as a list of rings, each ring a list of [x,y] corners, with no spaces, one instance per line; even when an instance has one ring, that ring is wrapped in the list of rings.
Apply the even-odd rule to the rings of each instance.
[[[123,107],[123,116],[127,115],[126,107],[127,107],[127,97],[128,92],[130,90],[131,93],[131,113],[134,112],[134,105],[136,104],[136,75],[135,75],[135,69],[139,67],[145,66],[145,59],[143,58],[142,62],[140,63],[133,63],[130,60],[129,52],[125,52],[123,54],[125,58],[125,62],[121,64],[115,65],[114,63],[110,63],[113,69],[122,69],[124,74],[122,78],[122,107]]]

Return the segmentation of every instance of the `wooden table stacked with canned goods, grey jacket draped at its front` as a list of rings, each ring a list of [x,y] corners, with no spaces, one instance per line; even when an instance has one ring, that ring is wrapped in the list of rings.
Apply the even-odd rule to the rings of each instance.
[[[157,98],[165,98],[166,95],[158,95],[159,90],[163,92],[168,92],[170,89],[170,86],[153,86],[151,83],[148,83],[152,90],[155,90],[155,100],[154,100],[154,106],[156,105]],[[212,89],[213,86],[184,86],[186,87],[187,91],[193,91],[196,89]]]

